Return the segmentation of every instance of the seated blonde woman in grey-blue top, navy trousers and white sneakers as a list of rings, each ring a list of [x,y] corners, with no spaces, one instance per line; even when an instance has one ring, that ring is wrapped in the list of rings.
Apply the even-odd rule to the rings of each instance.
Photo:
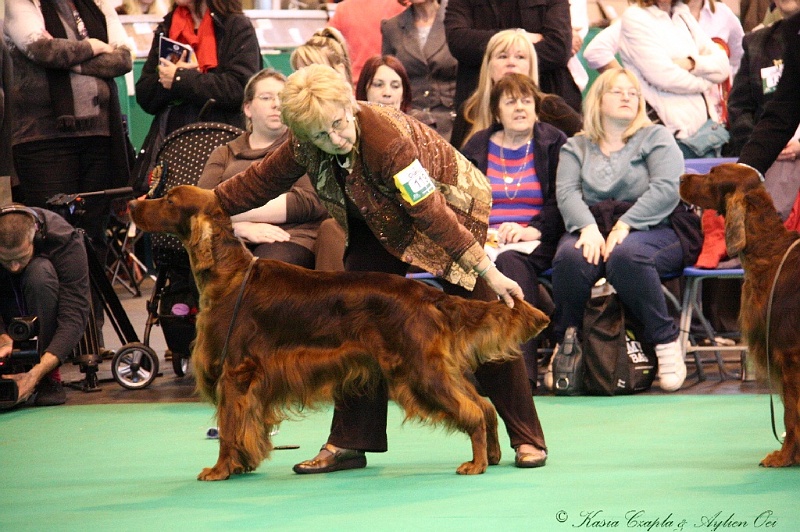
[[[630,71],[608,70],[597,78],[584,115],[584,134],[564,145],[556,177],[567,230],[553,259],[556,341],[563,342],[569,327],[580,331],[592,286],[605,277],[643,324],[642,341],[656,346],[661,389],[678,390],[686,366],[660,278],[684,266],[669,222],[680,201],[680,149],[664,126],[647,118]],[[611,227],[602,223],[604,214],[622,210]]]

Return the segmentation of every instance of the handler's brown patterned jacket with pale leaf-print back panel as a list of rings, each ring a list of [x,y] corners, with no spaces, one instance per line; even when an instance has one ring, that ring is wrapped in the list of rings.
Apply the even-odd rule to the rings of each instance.
[[[413,118],[359,102],[353,171],[336,180],[336,160],[290,135],[275,153],[215,190],[231,215],[263,205],[308,173],[322,203],[347,231],[345,196],[384,247],[402,261],[472,289],[473,268],[485,255],[483,242],[491,209],[486,177],[452,145]],[[437,190],[412,205],[394,176],[415,160]]]

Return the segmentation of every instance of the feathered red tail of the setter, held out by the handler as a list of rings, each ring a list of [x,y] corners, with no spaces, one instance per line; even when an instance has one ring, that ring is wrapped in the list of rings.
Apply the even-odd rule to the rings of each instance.
[[[462,302],[463,303],[463,302]],[[501,301],[471,301],[473,311],[462,313],[454,335],[456,351],[464,353],[467,365],[476,368],[484,362],[501,362],[519,356],[520,345],[542,332],[550,319],[525,301],[514,299],[514,308]],[[472,305],[469,305],[472,306]],[[475,312],[475,310],[482,312]]]

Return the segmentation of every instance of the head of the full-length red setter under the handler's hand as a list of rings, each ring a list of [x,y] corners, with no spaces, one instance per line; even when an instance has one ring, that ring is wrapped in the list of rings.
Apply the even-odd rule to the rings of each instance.
[[[170,233],[183,243],[195,271],[208,270],[220,260],[213,253],[214,239],[234,238],[230,217],[211,190],[181,185],[163,198],[129,203],[131,219],[142,230]]]

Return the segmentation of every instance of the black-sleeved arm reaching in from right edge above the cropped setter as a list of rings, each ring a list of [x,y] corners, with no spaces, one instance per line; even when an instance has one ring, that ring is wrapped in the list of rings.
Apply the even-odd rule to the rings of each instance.
[[[739,154],[739,162],[765,174],[800,124],[800,13],[782,24],[785,52],[783,74],[764,106],[764,114],[750,140]]]

